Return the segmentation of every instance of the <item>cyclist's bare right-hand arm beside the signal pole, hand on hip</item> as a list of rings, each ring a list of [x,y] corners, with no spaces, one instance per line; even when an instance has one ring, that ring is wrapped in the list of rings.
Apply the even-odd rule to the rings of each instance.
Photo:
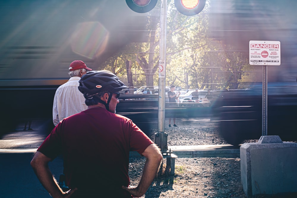
[[[146,157],[146,163],[144,164],[143,173],[138,186],[130,186],[129,188],[122,186],[123,189],[126,189],[135,197],[141,197],[149,189],[149,186],[157,175],[157,171],[163,158],[160,149],[156,144],[149,145],[142,155]]]

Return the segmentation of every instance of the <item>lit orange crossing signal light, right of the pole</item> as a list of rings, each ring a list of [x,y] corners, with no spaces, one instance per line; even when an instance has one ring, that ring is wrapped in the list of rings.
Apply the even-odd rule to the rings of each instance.
[[[201,12],[206,0],[174,0],[178,12],[187,16],[194,16]]]

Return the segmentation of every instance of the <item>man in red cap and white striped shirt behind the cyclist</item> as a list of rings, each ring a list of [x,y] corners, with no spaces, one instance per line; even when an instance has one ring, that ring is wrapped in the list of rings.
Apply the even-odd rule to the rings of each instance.
[[[71,78],[56,90],[54,97],[53,124],[55,126],[64,118],[88,108],[83,94],[78,90],[78,86],[81,76],[91,70],[81,60],[75,60],[70,64],[69,75]]]

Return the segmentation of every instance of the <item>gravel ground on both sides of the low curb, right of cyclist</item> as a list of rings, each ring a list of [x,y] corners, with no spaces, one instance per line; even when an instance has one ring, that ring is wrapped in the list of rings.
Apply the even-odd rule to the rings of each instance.
[[[168,127],[168,120],[165,123],[168,146],[228,144],[218,133],[219,124],[210,122],[209,118],[177,119],[178,127]],[[154,141],[157,120],[151,131],[150,138]],[[144,162],[143,157],[130,158],[132,186],[137,186]],[[166,159],[163,159],[162,168],[143,197],[246,197],[241,186],[240,158],[176,158],[173,176],[165,167]]]

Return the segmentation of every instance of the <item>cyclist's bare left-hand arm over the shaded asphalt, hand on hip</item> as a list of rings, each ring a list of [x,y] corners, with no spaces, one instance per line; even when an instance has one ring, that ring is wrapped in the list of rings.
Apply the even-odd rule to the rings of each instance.
[[[70,197],[76,189],[70,190],[68,193],[64,193],[60,189],[48,167],[50,160],[49,157],[37,151],[30,164],[40,183],[52,197]]]

